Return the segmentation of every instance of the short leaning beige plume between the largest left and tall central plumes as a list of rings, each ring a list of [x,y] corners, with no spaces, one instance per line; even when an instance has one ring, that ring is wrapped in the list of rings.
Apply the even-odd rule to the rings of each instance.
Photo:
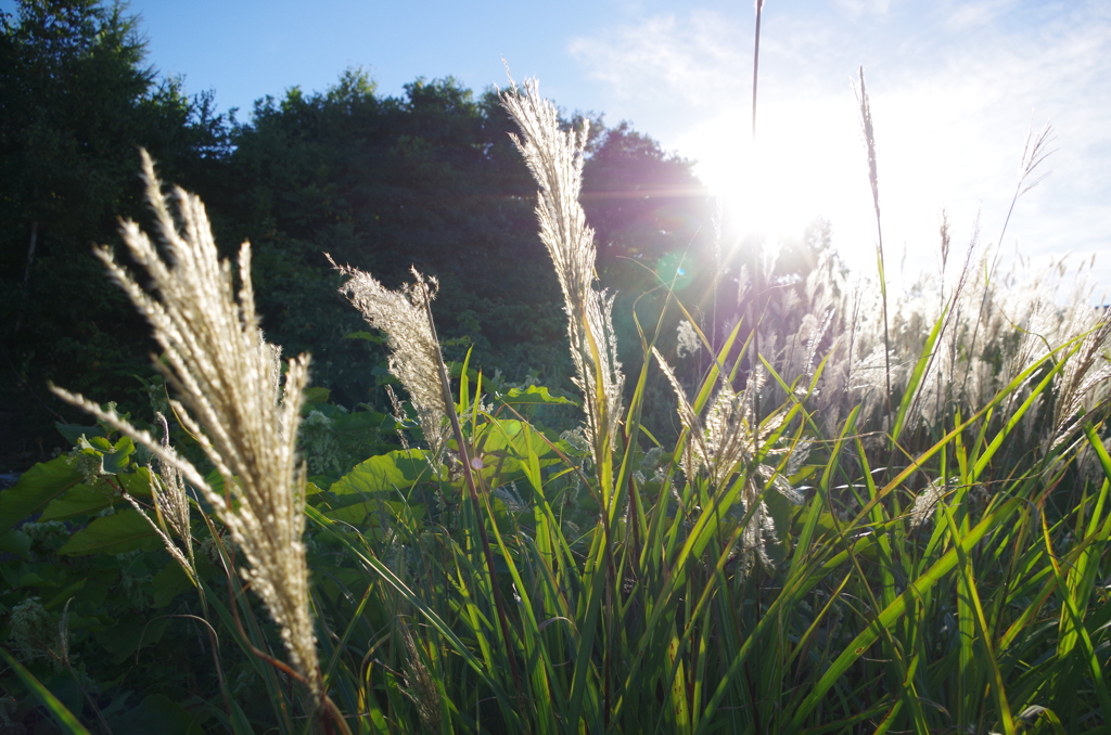
[[[328,258],[331,261],[331,256]],[[383,286],[370,273],[357,268],[332,265],[348,281],[340,293],[362,312],[367,323],[386,332],[390,348],[390,372],[401,381],[424,432],[424,440],[439,460],[448,440],[448,411],[440,385],[440,344],[432,335],[432,325],[424,296],[436,296],[438,282],[412,270],[416,283],[404,284],[397,291]],[[397,407],[394,409],[397,410]]]

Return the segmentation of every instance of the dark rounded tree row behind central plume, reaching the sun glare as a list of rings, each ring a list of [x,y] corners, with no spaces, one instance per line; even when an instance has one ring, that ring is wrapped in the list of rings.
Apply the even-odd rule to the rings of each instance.
[[[653,271],[705,262],[695,252],[712,230],[704,191],[691,162],[628,123],[595,130],[583,201],[599,275],[634,298],[655,285]],[[336,283],[323,252],[389,286],[411,279],[410,266],[438,276],[440,333],[458,340],[449,356],[473,345],[488,373],[569,387],[562,301],[512,131],[493,92],[476,97],[449,78],[380,97],[354,69],[324,92],[261,100],[236,127],[230,240],[254,245],[270,338],[312,351],[314,380],[342,402],[367,400],[374,381],[362,345],[342,340],[363,326],[323,285]],[[635,356],[631,320],[621,331]]]

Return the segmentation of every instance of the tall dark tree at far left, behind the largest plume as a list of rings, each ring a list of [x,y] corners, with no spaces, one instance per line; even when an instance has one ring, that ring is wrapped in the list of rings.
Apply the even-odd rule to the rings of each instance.
[[[42,410],[47,380],[120,395],[147,372],[146,326],[91,245],[116,240],[118,217],[142,212],[140,145],[190,185],[222,155],[223,137],[210,97],[187,98],[143,58],[121,6],[23,0],[0,16],[6,411]]]

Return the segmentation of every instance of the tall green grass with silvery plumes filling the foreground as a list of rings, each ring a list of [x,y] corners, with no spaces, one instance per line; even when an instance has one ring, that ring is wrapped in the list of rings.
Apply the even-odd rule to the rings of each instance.
[[[861,99],[867,128],[863,85]],[[200,489],[216,510],[206,522],[244,550],[246,576],[283,631],[283,671],[308,685],[268,679],[270,727],[1111,732],[1111,321],[1083,290],[1058,300],[1075,274],[1021,281],[973,241],[955,274],[891,293],[827,261],[737,322],[691,395],[655,349],[661,314],[641,329],[644,361],[624,390],[612,299],[594,283],[578,204],[585,132],[563,129],[534,82],[503,102],[563,289],[579,436],[517,413],[526,397],[556,400],[546,393],[487,394],[466,365],[452,389],[419,276],[390,292],[347,269],[346,291],[388,333],[429,450],[372,457],[307,501],[288,449],[306,363],[290,363],[276,402],[246,256],[236,299],[214,251],[179,246],[209,242],[203,221],[180,235],[167,215],[173,268],[128,238],[161,301],[113,271],[154,323],[179,415],[229,494],[98,415]],[[151,201],[162,201],[153,183]],[[943,231],[947,263],[950,246]],[[219,309],[176,285],[202,265]],[[711,348],[683,304],[669,308]],[[231,365],[209,372],[224,345],[200,341],[190,320],[202,311],[229,330],[238,377]],[[673,445],[641,425],[654,370],[677,393]],[[261,464],[252,432],[280,466]],[[249,513],[284,518],[280,543],[267,545],[272,530]],[[303,562],[304,517],[338,550],[327,574],[310,577]],[[217,614],[227,623],[236,611],[248,620],[231,635],[263,648],[248,606]],[[246,732],[232,709],[228,728]]]

